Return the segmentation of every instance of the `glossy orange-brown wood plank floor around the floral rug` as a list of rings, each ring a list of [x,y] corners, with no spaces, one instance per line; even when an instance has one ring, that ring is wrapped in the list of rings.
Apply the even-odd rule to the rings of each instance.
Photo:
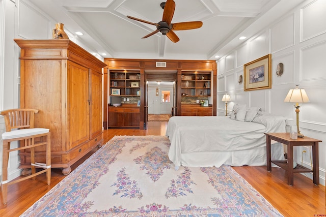
[[[110,129],[103,132],[103,139],[106,142],[115,135],[165,135],[166,127],[167,122],[149,122],[147,130]],[[76,162],[72,169],[95,151],[96,149]],[[272,172],[267,172],[265,166],[242,166],[233,169],[284,216],[326,216],[325,187],[315,186],[306,176],[295,173],[294,186],[290,187],[282,169],[273,168]],[[3,205],[0,199],[0,216],[19,216],[64,177],[59,168],[53,168],[50,185],[46,184],[45,174],[37,176],[35,180],[29,179],[9,185],[8,204]]]

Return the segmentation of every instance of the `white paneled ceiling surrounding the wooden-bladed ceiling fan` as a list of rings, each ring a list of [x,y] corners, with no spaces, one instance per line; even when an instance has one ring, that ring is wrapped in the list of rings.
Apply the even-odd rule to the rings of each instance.
[[[83,42],[102,57],[149,59],[216,59],[225,55],[302,0],[175,0],[172,23],[202,21],[199,29],[175,31],[171,42],[150,22],[162,19],[164,0],[25,0],[55,22],[64,23],[71,40]],[[54,28],[55,26],[53,26]],[[77,36],[75,32],[84,33]],[[74,41],[74,40],[73,40]],[[106,53],[104,55],[103,53]]]

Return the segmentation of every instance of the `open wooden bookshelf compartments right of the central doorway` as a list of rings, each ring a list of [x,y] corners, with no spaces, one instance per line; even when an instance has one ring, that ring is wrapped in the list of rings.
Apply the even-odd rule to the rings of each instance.
[[[211,72],[183,72],[181,97],[210,97]]]

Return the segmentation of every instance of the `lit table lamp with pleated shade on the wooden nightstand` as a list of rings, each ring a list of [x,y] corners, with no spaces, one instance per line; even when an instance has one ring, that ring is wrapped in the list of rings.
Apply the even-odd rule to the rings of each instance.
[[[299,103],[309,103],[308,95],[306,94],[305,89],[301,89],[296,85],[295,89],[290,89],[288,94],[286,95],[284,102],[295,103],[293,105],[295,107],[296,112],[296,128],[297,128],[297,137],[305,138],[303,134],[300,133],[299,130],[299,108],[301,107]]]

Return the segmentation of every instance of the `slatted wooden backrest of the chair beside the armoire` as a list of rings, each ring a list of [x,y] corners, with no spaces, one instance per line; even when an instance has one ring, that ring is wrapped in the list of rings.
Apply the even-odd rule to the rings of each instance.
[[[4,115],[6,131],[12,129],[34,128],[34,114],[38,113],[37,109],[9,109],[1,111]]]

